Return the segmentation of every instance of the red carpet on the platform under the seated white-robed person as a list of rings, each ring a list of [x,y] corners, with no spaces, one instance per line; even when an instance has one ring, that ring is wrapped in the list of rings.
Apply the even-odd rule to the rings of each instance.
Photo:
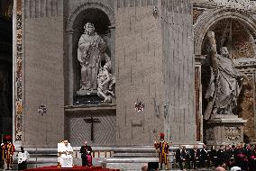
[[[37,168],[29,168],[29,169],[25,169],[25,170],[27,170],[27,171],[39,171],[39,170],[120,171],[119,169],[102,168],[101,166],[74,166],[73,168],[59,168],[58,166],[42,166],[42,167],[37,167]]]

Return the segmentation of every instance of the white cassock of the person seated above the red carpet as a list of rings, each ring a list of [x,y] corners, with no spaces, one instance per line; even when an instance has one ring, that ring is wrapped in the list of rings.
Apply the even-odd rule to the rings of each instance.
[[[58,158],[61,167],[73,167],[73,148],[68,143],[68,146],[65,146],[64,143],[58,143],[58,153],[60,157]]]

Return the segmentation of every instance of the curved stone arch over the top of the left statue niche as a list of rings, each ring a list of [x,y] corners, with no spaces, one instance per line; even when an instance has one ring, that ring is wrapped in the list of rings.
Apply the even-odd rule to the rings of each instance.
[[[96,8],[96,9],[103,11],[108,16],[111,25],[112,26],[114,25],[114,23],[115,23],[114,11],[111,9],[111,7],[109,7],[108,5],[103,4],[101,2],[95,2],[95,3],[87,2],[85,4],[79,5],[78,8],[76,8],[72,12],[72,14],[69,16],[66,30],[72,31],[73,27],[75,25],[74,23],[75,23],[76,19],[78,18],[78,15],[81,14],[83,11],[90,9],[90,8]]]

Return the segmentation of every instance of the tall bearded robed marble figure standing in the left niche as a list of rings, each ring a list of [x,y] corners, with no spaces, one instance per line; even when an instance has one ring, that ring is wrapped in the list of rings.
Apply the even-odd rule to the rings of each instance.
[[[97,90],[97,74],[101,67],[101,60],[110,58],[105,54],[105,41],[96,33],[92,23],[86,23],[85,32],[78,41],[78,61],[81,65],[81,80],[79,91],[87,94]]]

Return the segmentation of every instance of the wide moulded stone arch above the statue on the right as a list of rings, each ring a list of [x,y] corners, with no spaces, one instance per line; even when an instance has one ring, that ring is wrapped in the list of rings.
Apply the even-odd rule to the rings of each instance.
[[[197,23],[194,26],[194,38],[195,38],[195,55],[202,55],[201,47],[206,35],[206,32],[212,25],[218,23],[223,19],[236,19],[241,21],[249,31],[254,39],[256,39],[256,20],[249,13],[243,11],[235,11],[233,9],[217,9],[204,12],[198,17]]]

